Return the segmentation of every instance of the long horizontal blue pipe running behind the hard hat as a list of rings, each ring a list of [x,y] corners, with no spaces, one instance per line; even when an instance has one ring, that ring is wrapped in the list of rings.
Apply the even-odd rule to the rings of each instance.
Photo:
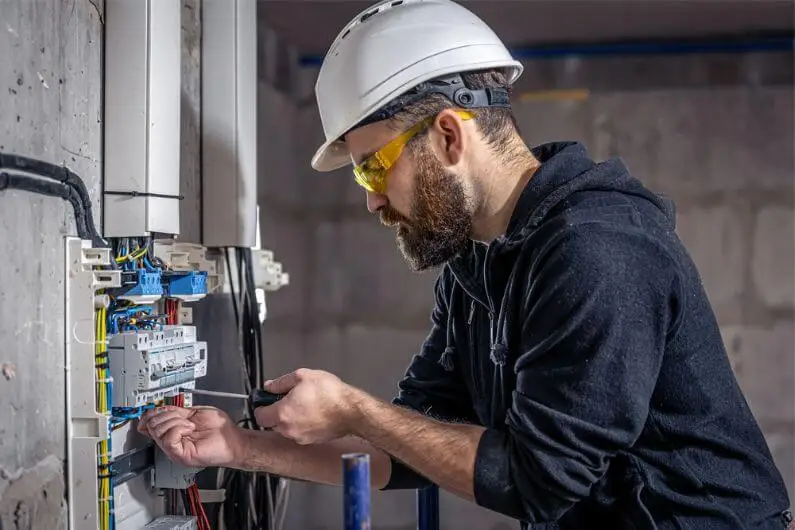
[[[560,59],[565,57],[611,57],[621,55],[674,55],[696,53],[752,53],[793,51],[795,36],[758,37],[752,39],[723,39],[704,41],[619,42],[613,44],[574,44],[567,46],[538,46],[513,48],[515,59]],[[320,67],[322,55],[303,55],[302,67]]]

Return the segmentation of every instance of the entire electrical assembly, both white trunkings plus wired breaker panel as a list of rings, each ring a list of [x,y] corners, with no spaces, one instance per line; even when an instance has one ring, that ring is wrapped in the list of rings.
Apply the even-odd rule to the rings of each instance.
[[[182,2],[106,0],[104,13],[104,239],[79,231],[65,255],[68,530],[209,530],[201,470],[136,426],[151,409],[190,407],[185,390],[207,375],[214,353],[191,304],[232,293],[261,323],[265,292],[289,283],[258,241],[256,0],[202,3],[203,246],[173,238]]]

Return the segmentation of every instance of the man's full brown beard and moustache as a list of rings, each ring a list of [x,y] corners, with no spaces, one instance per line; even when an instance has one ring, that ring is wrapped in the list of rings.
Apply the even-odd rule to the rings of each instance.
[[[414,149],[417,179],[411,219],[384,206],[381,222],[398,226],[397,243],[414,271],[439,267],[466,248],[472,233],[464,187],[425,147]]]

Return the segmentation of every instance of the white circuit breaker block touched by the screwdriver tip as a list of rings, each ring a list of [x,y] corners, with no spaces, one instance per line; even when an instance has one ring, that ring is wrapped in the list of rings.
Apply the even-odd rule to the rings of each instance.
[[[193,387],[207,374],[207,343],[193,326],[127,331],[108,345],[114,408],[143,407]]]

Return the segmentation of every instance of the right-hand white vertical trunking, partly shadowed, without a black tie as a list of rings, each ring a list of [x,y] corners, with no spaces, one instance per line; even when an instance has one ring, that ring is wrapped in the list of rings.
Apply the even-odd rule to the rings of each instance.
[[[257,224],[255,0],[202,4],[202,240],[253,247]]]

